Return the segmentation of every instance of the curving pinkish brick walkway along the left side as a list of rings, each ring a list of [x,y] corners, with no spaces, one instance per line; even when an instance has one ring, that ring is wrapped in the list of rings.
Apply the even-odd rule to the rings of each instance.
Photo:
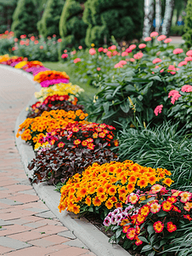
[[[39,200],[20,162],[14,125],[34,85],[1,66],[0,78],[0,255],[95,256]]]

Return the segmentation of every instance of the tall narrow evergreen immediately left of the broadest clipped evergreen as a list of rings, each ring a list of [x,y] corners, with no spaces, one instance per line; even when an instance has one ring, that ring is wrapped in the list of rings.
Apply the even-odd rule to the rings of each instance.
[[[70,47],[78,48],[79,45],[85,47],[84,38],[87,25],[82,20],[83,2],[66,0],[59,20],[59,32],[62,38],[59,57],[63,50]]]

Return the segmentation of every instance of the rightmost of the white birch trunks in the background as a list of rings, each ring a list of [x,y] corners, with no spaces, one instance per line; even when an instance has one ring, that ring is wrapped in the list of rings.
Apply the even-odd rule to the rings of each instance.
[[[172,25],[172,12],[173,12],[174,0],[166,0],[166,9],[164,20],[162,24],[162,35],[168,35],[170,26]]]

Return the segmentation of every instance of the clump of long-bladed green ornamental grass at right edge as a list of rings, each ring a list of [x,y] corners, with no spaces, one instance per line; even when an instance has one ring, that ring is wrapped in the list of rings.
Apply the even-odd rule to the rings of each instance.
[[[178,124],[165,122],[155,128],[139,125],[118,133],[121,160],[136,161],[141,166],[166,168],[172,172],[172,188],[179,189],[192,183],[191,135]]]

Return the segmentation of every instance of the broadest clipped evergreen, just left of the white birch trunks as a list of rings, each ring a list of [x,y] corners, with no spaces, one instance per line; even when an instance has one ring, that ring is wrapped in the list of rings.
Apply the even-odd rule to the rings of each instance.
[[[88,24],[86,44],[109,44],[111,35],[118,41],[140,38],[142,13],[142,1],[88,0],[83,13]]]

